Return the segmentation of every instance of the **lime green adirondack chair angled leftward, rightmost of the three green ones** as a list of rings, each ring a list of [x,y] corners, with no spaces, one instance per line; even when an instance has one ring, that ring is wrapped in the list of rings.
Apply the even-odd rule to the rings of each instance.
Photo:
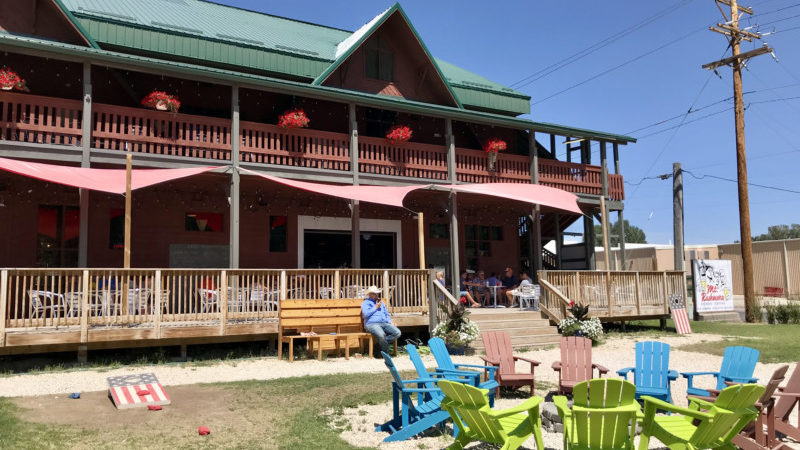
[[[639,450],[646,450],[653,436],[671,449],[736,449],[731,439],[758,417],[755,402],[764,386],[740,384],[723,389],[714,402],[689,398],[683,408],[644,396],[644,423]],[[673,414],[656,417],[656,410]]]

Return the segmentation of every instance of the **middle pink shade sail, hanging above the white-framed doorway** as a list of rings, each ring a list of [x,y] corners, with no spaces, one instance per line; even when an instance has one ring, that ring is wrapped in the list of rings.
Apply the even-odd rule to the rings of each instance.
[[[378,203],[380,205],[403,206],[403,199],[409,192],[417,189],[430,187],[429,184],[418,184],[412,186],[341,186],[324,183],[310,183],[307,181],[290,180],[287,178],[273,177],[271,175],[259,173],[253,170],[240,169],[242,172],[258,175],[267,180],[274,181],[286,186],[291,186],[304,191],[316,192],[318,194],[330,195],[333,197],[358,200],[362,202]]]

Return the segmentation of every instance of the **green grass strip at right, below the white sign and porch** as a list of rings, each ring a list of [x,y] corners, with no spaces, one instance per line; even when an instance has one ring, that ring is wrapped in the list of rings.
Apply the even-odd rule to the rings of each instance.
[[[727,346],[745,345],[758,349],[761,352],[759,361],[764,363],[800,361],[800,325],[692,322],[692,331],[722,335],[725,340],[679,345],[676,348],[722,356]],[[675,336],[675,324],[668,320],[667,331],[661,331],[657,320],[635,321],[628,323],[625,332],[615,327],[608,330],[607,334],[610,337]]]

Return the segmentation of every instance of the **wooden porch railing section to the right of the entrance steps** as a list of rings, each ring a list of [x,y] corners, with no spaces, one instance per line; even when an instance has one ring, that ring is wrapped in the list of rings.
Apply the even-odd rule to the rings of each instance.
[[[589,314],[606,320],[669,314],[672,296],[686,298],[686,280],[681,271],[566,271],[541,270],[544,296],[574,300],[589,305]],[[548,292],[551,291],[551,292]],[[559,304],[553,302],[553,305]],[[546,305],[550,309],[550,304]],[[563,319],[564,312],[553,317]]]

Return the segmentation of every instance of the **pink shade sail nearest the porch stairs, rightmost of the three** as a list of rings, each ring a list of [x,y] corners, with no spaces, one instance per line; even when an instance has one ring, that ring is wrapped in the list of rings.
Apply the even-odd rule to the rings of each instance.
[[[450,184],[437,186],[439,189],[453,190],[469,194],[491,195],[507,200],[541,205],[544,208],[558,209],[575,214],[583,214],[578,207],[578,196],[562,189],[524,183],[482,183]]]

